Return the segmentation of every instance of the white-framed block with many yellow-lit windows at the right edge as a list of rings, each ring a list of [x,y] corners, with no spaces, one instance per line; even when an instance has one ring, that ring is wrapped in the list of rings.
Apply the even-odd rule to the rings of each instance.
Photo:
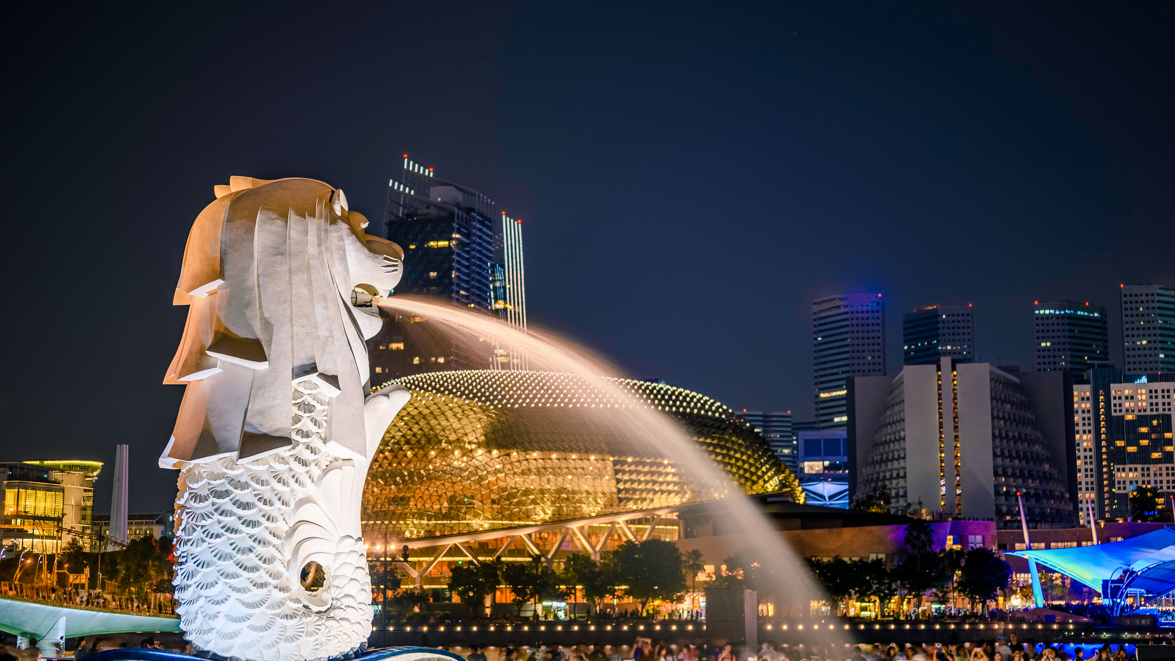
[[[1074,420],[1081,423],[1079,500],[1093,500],[1099,520],[1124,519],[1130,492],[1137,487],[1154,487],[1164,496],[1175,493],[1175,373],[1140,374],[1100,366],[1087,372],[1086,381],[1088,387],[1074,387],[1074,406],[1089,403],[1074,410]]]

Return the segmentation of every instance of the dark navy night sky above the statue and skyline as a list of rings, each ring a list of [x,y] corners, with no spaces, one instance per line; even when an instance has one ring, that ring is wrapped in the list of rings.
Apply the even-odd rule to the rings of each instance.
[[[1033,300],[1100,302],[1121,360],[1119,283],[1175,285],[1170,4],[169,5],[0,28],[0,460],[127,442],[132,510],[174,494],[172,292],[233,174],[377,219],[408,153],[524,220],[532,321],[799,418],[818,296],[882,292],[895,373],[914,306],[1028,366]]]

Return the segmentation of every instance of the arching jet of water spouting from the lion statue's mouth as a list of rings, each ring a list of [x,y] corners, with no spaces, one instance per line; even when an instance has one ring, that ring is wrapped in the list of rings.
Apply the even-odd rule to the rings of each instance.
[[[632,396],[609,380],[625,378],[622,370],[598,353],[556,333],[531,328],[524,334],[489,315],[428,299],[397,295],[376,299],[376,305],[392,313],[423,319],[432,326],[429,333],[434,338],[443,335],[463,347],[469,355],[484,354],[486,368],[490,367],[490,350],[501,348],[505,355],[521,356],[530,370],[586,376],[598,381],[600,390],[616,400],[624,401]],[[615,415],[607,418],[607,433],[620,434],[629,443],[647,447],[650,456],[673,458],[684,472],[701,478],[704,482],[728,483],[723,469],[667,414],[652,407],[629,406],[616,408]],[[724,540],[728,552],[743,548],[757,550],[765,569],[759,572],[764,585],[751,587],[758,590],[760,599],[771,595],[777,610],[791,614],[807,614],[812,601],[826,599],[804,562],[758,508],[741,496],[739,489],[732,489],[732,495],[716,501],[714,507],[719,510],[718,515],[725,518],[724,528],[732,533]],[[706,557],[706,561],[720,565],[723,557]],[[826,622],[821,628],[828,626]],[[812,632],[812,625],[805,628]],[[808,640],[820,645],[851,637],[842,629],[825,630],[818,637],[812,634]]]

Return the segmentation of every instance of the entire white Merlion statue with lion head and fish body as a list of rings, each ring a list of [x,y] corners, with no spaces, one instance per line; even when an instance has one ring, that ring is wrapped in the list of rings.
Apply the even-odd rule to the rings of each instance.
[[[180,468],[175,599],[200,650],[347,659],[371,633],[360,529],[368,465],[408,392],[369,395],[370,305],[403,251],[342,191],[234,176],[196,218],[164,383],[187,389],[160,466]],[[364,302],[367,306],[364,306]]]

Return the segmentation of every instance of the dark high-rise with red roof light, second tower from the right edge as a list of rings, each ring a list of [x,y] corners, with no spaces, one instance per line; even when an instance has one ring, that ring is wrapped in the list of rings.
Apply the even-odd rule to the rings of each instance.
[[[1077,380],[1109,360],[1106,308],[1089,302],[1036,301],[1033,307],[1036,372],[1068,370]]]

